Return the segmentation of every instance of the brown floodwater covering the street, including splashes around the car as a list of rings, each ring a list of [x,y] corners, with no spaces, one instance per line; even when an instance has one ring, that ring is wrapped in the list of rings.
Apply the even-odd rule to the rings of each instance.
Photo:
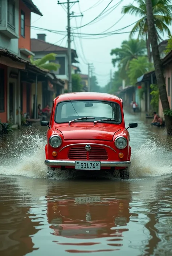
[[[46,128],[0,141],[0,256],[171,256],[172,138],[125,114],[131,179],[57,172],[46,177]]]

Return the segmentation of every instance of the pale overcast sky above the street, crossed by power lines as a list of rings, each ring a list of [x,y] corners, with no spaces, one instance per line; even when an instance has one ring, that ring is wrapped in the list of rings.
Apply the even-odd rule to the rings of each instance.
[[[60,0],[60,2],[65,2],[66,0]],[[71,0],[73,1],[73,0]],[[77,1],[77,0],[75,0]],[[109,5],[107,10],[114,5],[118,4],[120,0],[113,0]],[[40,9],[43,16],[32,13],[31,26],[52,29],[57,31],[66,31],[67,26],[67,13],[65,6],[58,5],[57,0],[33,0],[34,4]],[[98,4],[96,4],[98,3]],[[80,15],[80,11],[83,12],[83,17],[76,17],[71,19],[71,29],[77,26],[85,25],[97,17],[103,9],[110,3],[110,0],[79,0],[79,4],[75,3],[71,8],[71,12],[75,15]],[[121,9],[123,5],[132,3],[132,0],[123,0],[111,13],[108,11],[104,16],[97,19],[90,25],[87,25],[81,29],[74,30],[74,33],[102,33],[103,31],[110,29],[107,32],[115,31],[117,29],[126,27],[138,20],[138,17],[132,15],[121,14]],[[95,7],[89,9],[95,5]],[[89,10],[87,10],[89,9]],[[87,10],[87,11],[86,11]],[[109,13],[109,14],[108,14]],[[121,19],[122,18],[122,19]],[[121,19],[116,25],[114,25],[119,19]],[[77,26],[76,26],[77,22]],[[112,27],[112,25],[114,25]],[[133,26],[133,25],[132,25]],[[131,31],[131,27],[123,29],[121,32]],[[106,33],[107,33],[106,32]],[[31,37],[37,38],[37,33],[45,33],[47,35],[46,41],[52,44],[67,47],[67,37],[64,38],[66,33],[52,33],[49,31],[43,31],[41,29],[31,28]],[[95,68],[95,74],[98,78],[99,85],[105,86],[110,80],[110,70],[112,72],[115,70],[111,64],[111,49],[120,47],[123,40],[128,39],[129,33],[115,34],[105,38],[97,39],[84,39],[78,38],[75,35],[74,42],[72,42],[71,47],[77,50],[79,56],[79,68],[83,74],[88,74],[87,63],[93,63]],[[76,37],[77,36],[77,37]],[[81,37],[87,37],[82,35]],[[96,36],[89,36],[89,38],[95,38]],[[97,36],[97,37],[102,37]],[[62,40],[64,38],[64,40]],[[166,38],[165,38],[166,39]]]

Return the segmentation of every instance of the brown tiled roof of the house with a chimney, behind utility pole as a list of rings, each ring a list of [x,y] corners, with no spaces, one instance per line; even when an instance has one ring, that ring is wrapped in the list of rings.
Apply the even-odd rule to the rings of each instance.
[[[50,44],[40,39],[31,39],[31,51],[32,52],[67,52],[66,47],[58,46],[55,44]],[[71,49],[74,57],[77,58],[77,53],[74,49]]]

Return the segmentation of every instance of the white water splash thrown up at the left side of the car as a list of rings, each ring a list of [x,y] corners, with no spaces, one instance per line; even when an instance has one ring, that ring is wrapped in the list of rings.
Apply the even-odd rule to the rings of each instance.
[[[0,174],[45,178],[46,137],[29,132],[28,135],[19,136],[15,141],[15,144],[8,143],[7,148],[0,154],[3,163],[0,165]]]

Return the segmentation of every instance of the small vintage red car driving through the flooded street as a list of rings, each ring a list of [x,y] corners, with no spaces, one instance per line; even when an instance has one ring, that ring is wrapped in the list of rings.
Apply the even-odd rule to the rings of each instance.
[[[131,147],[124,123],[123,101],[107,93],[65,93],[53,101],[45,164],[62,170],[120,170],[129,179]]]

